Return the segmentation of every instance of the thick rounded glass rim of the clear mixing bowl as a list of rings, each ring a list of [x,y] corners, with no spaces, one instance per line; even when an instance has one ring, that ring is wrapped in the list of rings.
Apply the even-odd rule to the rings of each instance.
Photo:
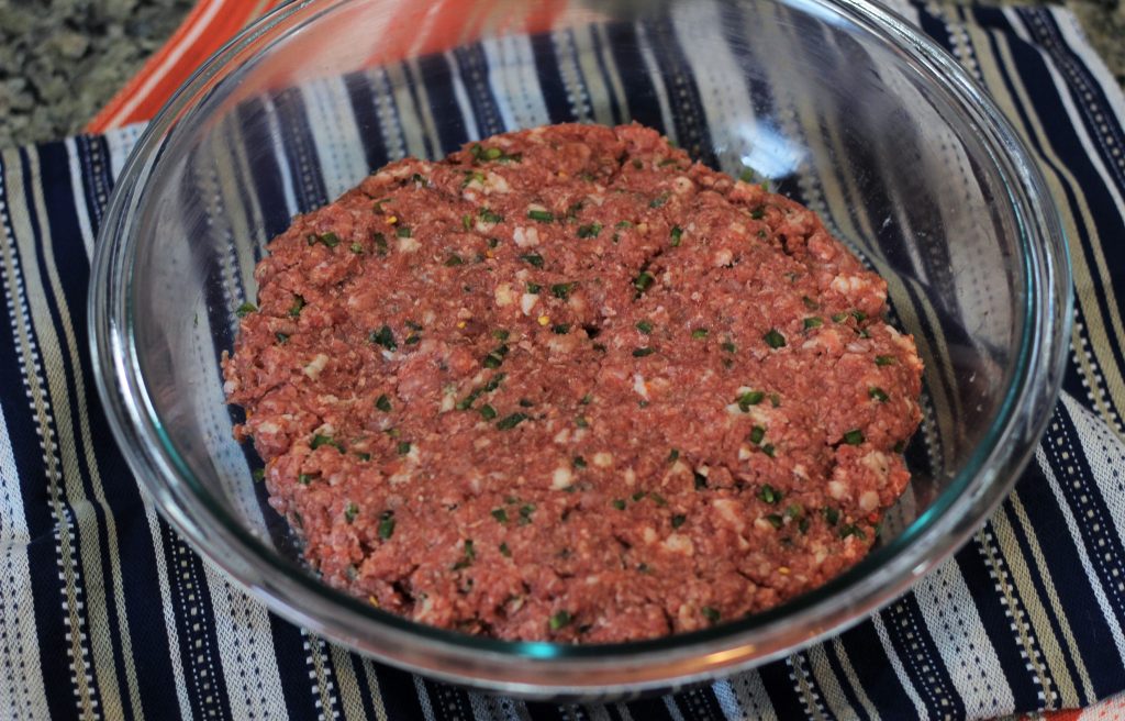
[[[908,21],[867,0],[772,0],[817,8],[909,56],[976,121],[993,153],[1016,220],[1025,297],[1015,370],[981,444],[914,523],[828,584],[777,609],[714,628],[645,641],[560,645],[501,641],[420,624],[333,589],[242,528],[191,474],[163,431],[134,345],[129,233],[146,180],[183,117],[240,61],[291,28],[356,0],[305,0],[251,24],[182,85],[136,143],[114,188],[91,271],[88,327],[98,393],[118,445],[165,519],[200,555],[271,610],[363,654],[429,676],[524,697],[654,690],[747,668],[862,621],[952,555],[983,524],[1028,461],[1058,396],[1073,292],[1070,259],[1051,196],[1030,154],[990,97],[956,61]],[[738,1],[738,0],[734,0]],[[1037,240],[1037,243],[1036,243]],[[119,282],[124,281],[124,283]],[[1045,381],[1045,382],[1044,382]],[[944,543],[944,546],[942,546]],[[222,548],[219,548],[222,547]],[[937,555],[926,556],[921,550]],[[245,559],[255,561],[249,564]],[[263,573],[262,566],[270,573]],[[857,597],[839,603],[848,588]],[[305,602],[312,603],[305,603]],[[327,603],[332,618],[310,609]]]

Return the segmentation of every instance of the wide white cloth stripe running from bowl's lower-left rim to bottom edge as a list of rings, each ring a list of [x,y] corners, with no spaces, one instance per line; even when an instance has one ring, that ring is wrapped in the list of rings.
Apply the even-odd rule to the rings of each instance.
[[[209,669],[225,676],[232,718],[287,719],[289,712],[266,606],[233,586],[209,562],[205,562],[204,567],[214,607],[210,616],[215,623],[219,658],[202,660]],[[199,611],[204,609],[200,606]],[[189,618],[192,615],[189,611]],[[189,649],[189,652],[195,652],[195,649]],[[220,663],[216,664],[216,660]],[[198,683],[206,684],[207,679],[199,679]]]

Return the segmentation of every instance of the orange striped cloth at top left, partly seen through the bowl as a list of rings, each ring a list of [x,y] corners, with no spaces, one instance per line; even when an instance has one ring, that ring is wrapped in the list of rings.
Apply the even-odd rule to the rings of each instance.
[[[331,27],[322,27],[323,31],[315,38],[298,35],[288,49],[295,57],[328,57],[342,52],[346,57],[334,58],[340,61],[338,69],[361,70],[404,57],[442,52],[478,39],[486,30],[543,30],[551,26],[567,4],[567,0],[539,0],[526,13],[525,22],[486,28],[484,22],[489,13],[503,9],[512,1],[399,2],[396,11],[378,28],[379,31],[354,22],[358,9],[350,11],[343,8],[327,20]],[[102,133],[151,119],[207,57],[246,24],[285,2],[286,0],[259,0],[250,3],[244,0],[200,0],[169,42],[87,124],[86,130]],[[503,17],[503,12],[496,12],[495,16]],[[348,42],[342,42],[344,38]],[[317,65],[323,66],[323,63]],[[259,89],[284,88],[310,80],[316,73],[315,67],[289,65],[279,67],[267,78],[255,79],[254,84]]]

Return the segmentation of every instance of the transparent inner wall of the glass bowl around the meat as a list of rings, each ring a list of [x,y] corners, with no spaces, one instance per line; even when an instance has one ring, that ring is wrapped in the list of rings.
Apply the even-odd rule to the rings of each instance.
[[[266,243],[388,161],[548,123],[655,127],[808,205],[888,280],[892,321],[926,362],[914,478],[880,540],[888,555],[951,494],[994,480],[981,449],[1000,433],[1033,323],[1026,219],[979,117],[933,67],[806,0],[466,3],[480,17],[448,47],[397,47],[387,38],[408,29],[404,4],[276,16],[177,101],[129,196],[124,337],[143,420],[170,459],[172,494],[261,541],[248,566],[269,557],[312,577],[252,479],[260,459],[232,440],[241,412],[225,405],[219,371]],[[951,550],[934,543],[924,559]],[[826,593],[846,596],[878,565]],[[322,611],[348,603],[316,593]]]

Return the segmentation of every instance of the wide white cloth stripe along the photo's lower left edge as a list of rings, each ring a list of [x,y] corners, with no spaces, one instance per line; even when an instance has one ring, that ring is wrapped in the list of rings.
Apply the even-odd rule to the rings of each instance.
[[[15,313],[9,295],[8,312]],[[9,661],[0,674],[0,709],[18,719],[48,715],[46,686],[39,666],[35,598],[27,546],[32,542],[24,498],[20,495],[16,457],[8,424],[0,407],[0,658]],[[18,663],[10,663],[18,661]],[[26,717],[24,714],[27,714]]]

